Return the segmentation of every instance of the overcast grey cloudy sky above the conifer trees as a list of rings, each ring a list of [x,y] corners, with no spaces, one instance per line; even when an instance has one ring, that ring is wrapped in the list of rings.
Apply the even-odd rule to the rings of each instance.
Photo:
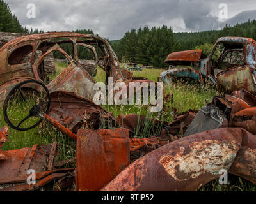
[[[92,29],[109,40],[126,31],[148,25],[172,26],[173,31],[220,29],[226,23],[256,19],[255,0],[4,0],[22,25],[44,31]],[[36,6],[29,19],[27,5]],[[227,4],[227,19],[220,19],[221,3]],[[222,12],[223,14],[223,12]],[[222,15],[223,17],[223,15]]]

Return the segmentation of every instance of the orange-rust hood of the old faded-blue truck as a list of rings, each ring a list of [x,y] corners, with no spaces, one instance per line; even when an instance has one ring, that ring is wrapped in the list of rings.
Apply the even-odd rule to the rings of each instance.
[[[164,63],[172,63],[173,61],[199,61],[202,55],[202,50],[186,50],[180,52],[172,52],[169,54]]]

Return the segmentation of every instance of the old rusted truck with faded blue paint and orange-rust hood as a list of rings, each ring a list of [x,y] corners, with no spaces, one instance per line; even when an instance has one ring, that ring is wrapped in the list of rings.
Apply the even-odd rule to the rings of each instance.
[[[221,37],[209,56],[202,50],[186,50],[171,53],[164,62],[174,68],[161,73],[160,82],[189,77],[204,84],[209,78],[226,93],[243,88],[256,94],[256,41],[252,38]]]

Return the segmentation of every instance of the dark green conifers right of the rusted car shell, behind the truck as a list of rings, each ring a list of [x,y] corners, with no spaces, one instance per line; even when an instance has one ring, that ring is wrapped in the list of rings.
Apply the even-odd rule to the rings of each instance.
[[[240,36],[256,40],[256,20],[248,20],[221,30],[173,33],[172,27],[140,27],[125,33],[121,40],[111,41],[118,59],[156,67],[168,66],[164,59],[171,52],[203,48],[209,54],[216,40],[222,36]],[[209,49],[210,48],[210,49]]]

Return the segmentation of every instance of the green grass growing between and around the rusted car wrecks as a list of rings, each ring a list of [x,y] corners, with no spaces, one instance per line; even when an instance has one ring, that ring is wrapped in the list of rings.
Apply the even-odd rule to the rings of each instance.
[[[65,64],[56,63],[56,75],[65,68]],[[164,71],[161,69],[143,69],[143,71],[134,71],[134,76],[147,77],[150,80],[157,81],[159,74]],[[56,77],[52,75],[51,79]],[[102,69],[98,69],[97,76],[94,77],[97,82],[104,82],[106,75]],[[148,113],[148,106],[135,106],[135,105],[104,105],[103,107],[112,112],[115,117],[120,113],[129,114],[136,113],[140,115],[147,115],[148,118],[154,117],[167,122],[172,122],[172,108],[175,107],[180,113],[189,109],[198,110],[200,107],[211,102],[212,97],[216,96],[218,92],[216,87],[208,84],[204,89],[200,88],[198,84],[187,84],[186,82],[179,82],[172,86],[165,86],[165,91],[173,94],[173,103],[171,101],[165,101],[165,105],[168,107],[167,111],[159,113]],[[31,100],[29,103],[22,104],[20,101],[13,103],[9,113],[11,117],[17,121],[20,121],[28,114],[29,109],[33,106],[35,101]],[[22,110],[22,111],[20,111]],[[0,114],[0,126],[5,126],[3,119],[3,112]],[[24,124],[24,126],[29,125]],[[137,135],[139,136],[139,135]],[[141,136],[141,135],[140,135]],[[150,128],[146,127],[143,131],[143,137],[150,136]],[[15,131],[9,128],[8,142],[4,144],[3,150],[20,149],[22,147],[32,147],[37,143],[40,145],[58,142],[60,143],[60,156],[58,159],[68,159],[74,157],[76,153],[76,143],[70,140],[67,136],[62,135],[60,131],[52,128],[49,124],[42,123],[40,126],[31,129],[29,131]],[[200,189],[200,191],[255,191],[256,186],[251,182],[236,177],[234,175],[228,175],[228,185],[220,185],[218,179],[209,182]]]

